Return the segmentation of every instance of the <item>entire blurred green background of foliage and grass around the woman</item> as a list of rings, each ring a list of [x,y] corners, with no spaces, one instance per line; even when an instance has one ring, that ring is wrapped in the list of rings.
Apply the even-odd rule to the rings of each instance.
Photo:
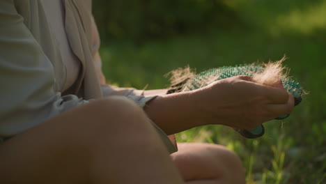
[[[309,92],[290,117],[265,123],[259,139],[209,125],[178,141],[228,146],[249,184],[326,183],[325,0],[95,0],[94,15],[104,74],[119,86],[165,88],[164,74],[179,67],[201,72],[286,54],[290,75]]]

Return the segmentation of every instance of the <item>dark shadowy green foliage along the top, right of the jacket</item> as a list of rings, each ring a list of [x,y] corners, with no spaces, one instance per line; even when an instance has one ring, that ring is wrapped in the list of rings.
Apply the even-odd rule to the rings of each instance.
[[[167,38],[240,20],[215,0],[96,0],[93,9],[104,40]]]

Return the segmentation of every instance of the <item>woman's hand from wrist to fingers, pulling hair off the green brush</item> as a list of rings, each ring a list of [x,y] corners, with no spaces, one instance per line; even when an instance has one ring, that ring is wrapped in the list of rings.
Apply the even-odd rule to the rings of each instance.
[[[230,77],[194,91],[202,122],[253,130],[265,121],[290,114],[294,98],[281,82],[278,87],[271,87],[251,79]]]

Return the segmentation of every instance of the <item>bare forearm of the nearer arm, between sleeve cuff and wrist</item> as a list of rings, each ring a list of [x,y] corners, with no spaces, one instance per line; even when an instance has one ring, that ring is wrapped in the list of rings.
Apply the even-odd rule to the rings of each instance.
[[[196,105],[196,92],[188,91],[157,96],[144,110],[167,135],[171,135],[203,125]]]

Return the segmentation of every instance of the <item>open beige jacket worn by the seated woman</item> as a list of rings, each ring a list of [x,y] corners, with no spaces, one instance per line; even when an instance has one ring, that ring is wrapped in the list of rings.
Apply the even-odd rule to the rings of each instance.
[[[42,6],[41,0],[0,0],[0,138],[103,96],[126,95],[141,107],[153,98],[104,84],[91,0],[63,0],[68,42],[81,62],[77,82],[63,91],[67,70]]]

